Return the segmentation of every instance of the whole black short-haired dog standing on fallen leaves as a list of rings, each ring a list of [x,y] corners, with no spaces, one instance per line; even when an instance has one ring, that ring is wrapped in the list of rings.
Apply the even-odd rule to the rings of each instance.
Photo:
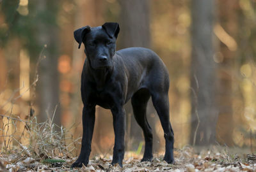
[[[83,139],[81,153],[72,167],[88,164],[91,152],[95,106],[110,109],[113,114],[115,146],[111,164],[122,167],[124,159],[125,110],[131,99],[134,117],[143,129],[145,152],[141,161],[150,161],[152,131],[146,117],[150,96],[164,130],[164,160],[173,163],[173,130],[169,117],[169,76],[163,61],[147,48],[125,48],[115,51],[119,32],[117,23],[99,27],[85,26],[74,31],[79,43],[84,43],[86,60],[81,76],[83,108]]]

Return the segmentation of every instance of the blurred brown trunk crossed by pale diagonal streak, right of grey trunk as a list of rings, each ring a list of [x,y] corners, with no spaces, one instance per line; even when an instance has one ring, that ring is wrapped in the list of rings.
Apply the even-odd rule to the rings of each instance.
[[[232,138],[234,131],[232,78],[234,78],[234,57],[237,54],[237,44],[233,36],[238,34],[237,7],[239,7],[239,1],[218,1],[218,6],[220,25],[214,29],[215,34],[220,39],[220,52],[216,56],[218,61],[217,105],[219,110],[216,138],[221,144],[234,146]]]

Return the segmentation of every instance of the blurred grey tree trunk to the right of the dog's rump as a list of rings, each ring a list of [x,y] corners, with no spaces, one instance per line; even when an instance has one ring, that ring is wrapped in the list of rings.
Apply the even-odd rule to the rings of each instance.
[[[215,143],[218,113],[214,103],[214,0],[191,1],[191,138],[192,145]]]

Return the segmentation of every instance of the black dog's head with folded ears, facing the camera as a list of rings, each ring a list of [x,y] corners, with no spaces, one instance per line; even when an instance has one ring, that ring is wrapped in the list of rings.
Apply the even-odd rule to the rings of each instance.
[[[119,32],[118,23],[107,22],[99,27],[86,25],[74,31],[74,37],[79,43],[84,43],[84,52],[93,69],[113,66],[113,56],[116,50],[116,38]]]

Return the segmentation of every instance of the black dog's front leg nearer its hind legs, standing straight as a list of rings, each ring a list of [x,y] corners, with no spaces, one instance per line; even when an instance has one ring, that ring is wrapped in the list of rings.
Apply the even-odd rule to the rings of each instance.
[[[124,159],[124,134],[125,134],[125,110],[124,106],[115,107],[111,110],[115,131],[115,146],[112,165],[118,163],[122,167]]]

